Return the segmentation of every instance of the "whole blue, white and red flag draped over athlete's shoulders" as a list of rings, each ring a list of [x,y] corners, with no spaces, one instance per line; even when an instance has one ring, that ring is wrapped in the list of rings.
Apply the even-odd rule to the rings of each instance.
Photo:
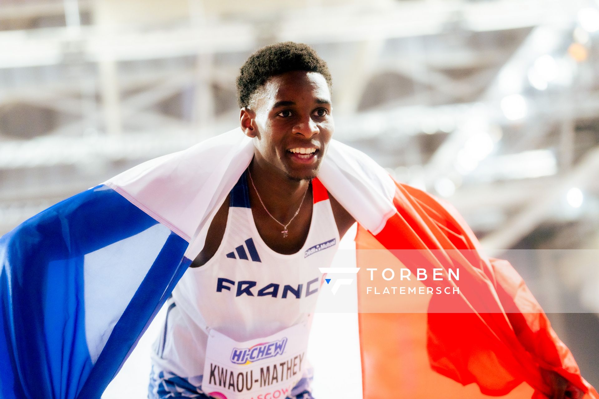
[[[0,397],[99,398],[201,251],[218,205],[252,156],[252,140],[235,129],[133,167],[3,236]],[[359,263],[371,261],[362,249],[378,248],[409,269],[461,271],[451,283],[461,294],[422,303],[422,313],[376,313],[359,295],[365,398],[409,392],[413,384],[398,385],[401,375],[420,371],[440,383],[450,381],[443,376],[476,383],[489,395],[526,382],[540,398],[549,392],[544,369],[599,399],[518,273],[483,257],[451,206],[398,184],[337,141],[319,179],[359,223]],[[410,334],[421,350],[410,363],[392,361],[389,353],[401,353]],[[433,397],[414,392],[402,396]]]

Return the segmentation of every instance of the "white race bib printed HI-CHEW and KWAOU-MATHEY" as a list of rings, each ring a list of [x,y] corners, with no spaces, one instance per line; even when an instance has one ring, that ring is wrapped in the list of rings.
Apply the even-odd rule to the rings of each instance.
[[[308,328],[237,342],[210,330],[202,391],[218,399],[283,399],[307,367]]]

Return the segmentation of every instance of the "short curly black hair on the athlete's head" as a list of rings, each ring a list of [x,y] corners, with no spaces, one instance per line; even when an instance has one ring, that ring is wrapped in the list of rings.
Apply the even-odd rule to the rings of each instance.
[[[291,71],[318,72],[331,89],[332,78],[326,62],[307,44],[292,41],[267,45],[253,53],[237,77],[237,102],[249,106],[252,95],[269,78]]]

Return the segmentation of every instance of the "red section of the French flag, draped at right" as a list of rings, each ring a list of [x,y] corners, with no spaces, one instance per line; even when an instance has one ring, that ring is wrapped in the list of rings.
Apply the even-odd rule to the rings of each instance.
[[[561,374],[585,399],[599,399],[521,276],[507,261],[483,257],[451,205],[404,184],[397,184],[394,204],[397,214],[376,236],[359,228],[358,267],[372,267],[368,251],[361,251],[369,248],[389,249],[410,270],[450,264],[461,270],[455,282],[461,294],[413,296],[410,313],[366,313],[371,299],[362,288],[370,282],[358,276],[365,399],[541,399],[550,393],[542,370]]]

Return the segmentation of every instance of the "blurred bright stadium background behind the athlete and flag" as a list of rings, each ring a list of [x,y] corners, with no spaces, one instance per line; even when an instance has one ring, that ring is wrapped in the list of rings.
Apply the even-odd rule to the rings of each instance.
[[[0,233],[234,128],[246,57],[305,42],[335,138],[512,257],[597,386],[598,31],[578,0],[2,0]]]

